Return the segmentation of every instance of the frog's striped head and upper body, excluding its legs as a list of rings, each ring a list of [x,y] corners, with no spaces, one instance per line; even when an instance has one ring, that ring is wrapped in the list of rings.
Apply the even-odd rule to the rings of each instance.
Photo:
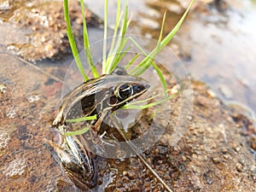
[[[90,79],[65,96],[53,125],[63,125],[67,118],[113,112],[141,96],[149,86],[144,79],[127,74],[125,68],[116,67],[112,73]]]

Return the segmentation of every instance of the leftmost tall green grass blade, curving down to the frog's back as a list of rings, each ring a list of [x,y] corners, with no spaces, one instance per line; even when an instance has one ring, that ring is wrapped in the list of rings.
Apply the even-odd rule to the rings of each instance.
[[[79,50],[77,49],[75,40],[73,38],[73,32],[72,32],[72,27],[69,19],[69,14],[68,14],[68,0],[63,1],[63,8],[64,8],[64,17],[67,23],[67,38],[73,53],[74,60],[76,61],[77,67],[79,68],[79,72],[81,73],[82,77],[84,78],[84,81],[88,80],[87,75],[84,72],[84,67],[82,64],[82,61],[79,57]]]

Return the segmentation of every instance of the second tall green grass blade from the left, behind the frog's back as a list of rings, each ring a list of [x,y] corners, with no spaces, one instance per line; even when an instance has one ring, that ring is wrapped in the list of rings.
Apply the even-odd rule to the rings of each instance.
[[[83,15],[83,29],[84,29],[84,50],[85,50],[85,55],[90,67],[90,71],[92,72],[93,76],[95,78],[99,77],[99,74],[96,71],[96,67],[94,65],[92,55],[90,52],[90,42],[89,42],[89,37],[88,37],[88,32],[87,32],[87,26],[86,26],[86,20],[85,20],[85,15],[84,15],[84,0],[80,0],[80,6],[82,9],[82,15]]]

